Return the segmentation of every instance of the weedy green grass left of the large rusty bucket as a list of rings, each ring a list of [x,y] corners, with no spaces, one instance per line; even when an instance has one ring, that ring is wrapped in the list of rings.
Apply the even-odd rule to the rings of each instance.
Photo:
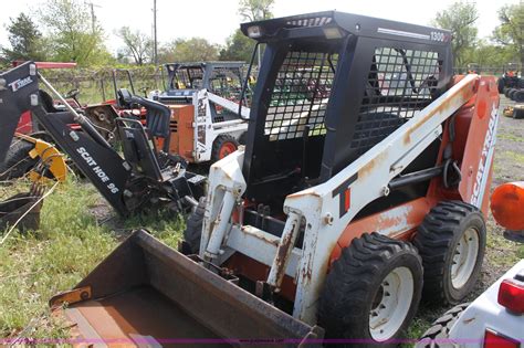
[[[28,190],[29,182],[4,187],[0,197]],[[64,325],[50,316],[48,300],[72,288],[88,274],[129,231],[145,226],[176,247],[184,229],[179,218],[142,217],[111,229],[92,209],[101,197],[91,184],[70,178],[44,202],[40,230],[10,235],[0,245],[0,337],[61,338]],[[111,212],[112,213],[112,212]],[[118,220],[117,218],[108,221]],[[120,223],[117,221],[117,223]]]

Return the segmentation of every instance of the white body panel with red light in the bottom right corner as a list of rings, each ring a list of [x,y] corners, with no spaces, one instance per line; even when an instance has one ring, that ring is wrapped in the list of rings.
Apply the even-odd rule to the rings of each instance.
[[[483,347],[485,329],[524,341],[524,315],[513,315],[499,305],[499,287],[503,280],[513,278],[524,268],[521,260],[510,271],[480,295],[460,316],[449,333],[449,338],[460,347]]]

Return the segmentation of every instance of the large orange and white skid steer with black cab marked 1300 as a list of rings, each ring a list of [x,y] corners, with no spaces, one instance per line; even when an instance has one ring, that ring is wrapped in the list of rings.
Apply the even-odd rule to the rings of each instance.
[[[245,147],[211,166],[181,252],[137,231],[51,299],[76,341],[394,346],[421,297],[479,277],[499,93],[452,75],[450,32],[336,11],[241,29],[266,44]]]

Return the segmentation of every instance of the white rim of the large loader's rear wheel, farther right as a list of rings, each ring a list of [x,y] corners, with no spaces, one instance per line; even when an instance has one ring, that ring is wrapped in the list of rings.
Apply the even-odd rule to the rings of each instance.
[[[475,229],[465,230],[457,244],[451,264],[451,284],[461,288],[471,277],[479,255],[479,233]]]

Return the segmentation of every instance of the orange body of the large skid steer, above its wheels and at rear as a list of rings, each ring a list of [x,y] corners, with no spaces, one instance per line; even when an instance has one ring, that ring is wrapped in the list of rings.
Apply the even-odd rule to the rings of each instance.
[[[458,83],[463,76],[455,76]],[[470,202],[475,190],[475,180],[479,168],[486,166],[485,144],[490,143],[494,136],[494,117],[499,108],[499,92],[494,77],[480,77],[476,85],[476,94],[464,104],[454,118],[455,138],[452,144],[452,158],[459,162],[462,173],[462,181],[458,189],[446,189],[440,177],[433,178],[430,182],[428,193],[405,204],[394,207],[389,210],[353,221],[347,225],[336,246],[334,247],[329,264],[337,260],[344,247],[349,246],[353,239],[364,233],[379,232],[395,239],[411,239],[417,226],[423,221],[426,214],[439,201],[443,199],[460,199]],[[444,124],[442,144],[440,147],[438,161],[442,164],[442,156],[449,143],[449,120]],[[493,165],[486,175],[488,182],[481,203],[484,215],[489,209],[489,190],[493,172]],[[481,188],[476,189],[478,191]]]

